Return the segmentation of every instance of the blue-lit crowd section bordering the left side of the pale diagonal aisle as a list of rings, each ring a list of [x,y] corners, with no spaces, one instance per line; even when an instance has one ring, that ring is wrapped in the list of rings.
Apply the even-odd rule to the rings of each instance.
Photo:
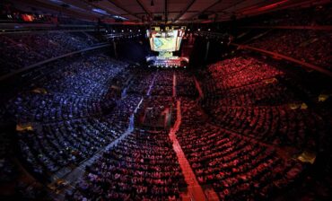
[[[84,118],[43,124],[42,131],[18,134],[22,160],[38,179],[77,165],[126,130],[114,119]]]

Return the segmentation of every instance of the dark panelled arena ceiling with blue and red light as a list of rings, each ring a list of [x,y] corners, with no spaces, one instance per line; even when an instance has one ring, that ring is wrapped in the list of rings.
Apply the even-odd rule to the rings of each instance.
[[[25,10],[61,13],[103,22],[223,22],[329,0],[13,0]]]

